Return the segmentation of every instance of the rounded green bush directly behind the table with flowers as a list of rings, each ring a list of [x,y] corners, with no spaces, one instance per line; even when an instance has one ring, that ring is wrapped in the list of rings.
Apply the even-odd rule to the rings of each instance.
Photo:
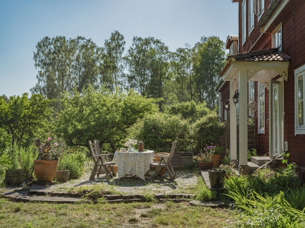
[[[171,148],[171,142],[178,140],[179,146],[188,148],[186,139],[180,139],[189,131],[189,124],[178,116],[164,113],[147,115],[129,130],[129,138],[142,140],[144,148],[154,148],[156,152],[167,152]],[[178,150],[176,150],[178,151]]]

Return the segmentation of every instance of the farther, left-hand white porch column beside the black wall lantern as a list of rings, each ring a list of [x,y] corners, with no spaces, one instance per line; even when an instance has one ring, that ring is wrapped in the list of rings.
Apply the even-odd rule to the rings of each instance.
[[[236,106],[233,96],[237,87],[236,80],[230,80],[230,160],[236,164],[237,160],[237,136],[236,136]],[[236,165],[237,167],[237,165]]]

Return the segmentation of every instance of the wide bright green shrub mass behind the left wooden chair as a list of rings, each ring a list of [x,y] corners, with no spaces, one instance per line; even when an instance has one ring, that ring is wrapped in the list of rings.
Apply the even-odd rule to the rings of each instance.
[[[88,140],[99,140],[101,149],[106,149],[104,143],[110,143],[114,151],[132,124],[158,111],[155,101],[132,90],[112,94],[88,88],[82,94],[66,94],[56,118],[55,133],[63,134],[68,145],[88,146]]]

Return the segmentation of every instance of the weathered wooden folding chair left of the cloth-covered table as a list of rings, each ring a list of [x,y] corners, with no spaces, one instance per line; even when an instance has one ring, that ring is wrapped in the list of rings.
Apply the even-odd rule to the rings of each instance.
[[[89,180],[94,179],[95,175],[99,177],[102,170],[105,171],[108,180],[110,180],[111,178],[113,178],[112,173],[115,176],[112,167],[112,165],[114,165],[114,162],[109,161],[108,159],[108,156],[110,156],[109,154],[104,154],[104,155],[101,154],[101,149],[98,140],[94,141],[94,145],[95,146],[93,147],[92,142],[89,140],[89,149],[94,161],[94,167],[93,170],[91,171]],[[110,167],[112,172],[109,171],[108,167]]]

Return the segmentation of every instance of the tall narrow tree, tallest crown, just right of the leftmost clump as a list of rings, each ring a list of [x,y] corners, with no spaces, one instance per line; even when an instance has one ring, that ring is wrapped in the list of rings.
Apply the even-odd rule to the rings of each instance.
[[[101,65],[101,82],[111,91],[124,85],[124,65],[122,61],[125,50],[124,36],[118,31],[111,32],[109,40],[105,40],[103,64]]]

